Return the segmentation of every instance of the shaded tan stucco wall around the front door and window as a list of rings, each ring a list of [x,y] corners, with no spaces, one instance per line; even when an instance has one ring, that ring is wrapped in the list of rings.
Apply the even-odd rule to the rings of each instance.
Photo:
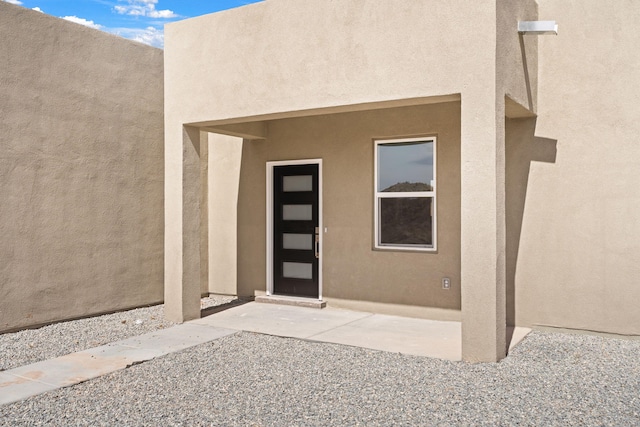
[[[436,135],[438,251],[373,250],[373,140]],[[323,161],[323,297],[460,309],[460,104],[276,120],[244,144],[238,292],[266,290],[266,162]],[[452,281],[443,290],[442,277]],[[397,313],[400,314],[400,313]]]

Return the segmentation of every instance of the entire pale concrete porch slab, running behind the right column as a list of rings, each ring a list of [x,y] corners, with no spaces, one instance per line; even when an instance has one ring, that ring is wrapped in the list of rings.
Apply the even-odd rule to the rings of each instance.
[[[189,323],[462,360],[462,324],[456,321],[250,302]],[[509,328],[510,348],[530,331],[527,328]]]

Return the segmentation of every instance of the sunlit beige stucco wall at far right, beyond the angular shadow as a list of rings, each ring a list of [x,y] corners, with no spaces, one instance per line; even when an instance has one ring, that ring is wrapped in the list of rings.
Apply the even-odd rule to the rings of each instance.
[[[539,4],[560,29],[539,40],[536,135],[557,154],[529,163],[515,319],[640,334],[640,4]]]

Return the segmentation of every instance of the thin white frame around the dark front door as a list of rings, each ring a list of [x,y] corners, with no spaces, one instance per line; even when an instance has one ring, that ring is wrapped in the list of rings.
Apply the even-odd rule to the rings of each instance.
[[[320,258],[318,259],[318,300],[322,300],[322,253],[324,226],[322,223],[322,159],[279,160],[267,162],[267,295],[273,295],[273,168],[275,166],[318,165],[318,228]]]

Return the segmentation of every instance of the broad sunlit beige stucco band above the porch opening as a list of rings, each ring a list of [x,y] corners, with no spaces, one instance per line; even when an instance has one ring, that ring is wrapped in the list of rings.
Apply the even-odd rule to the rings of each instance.
[[[495,80],[495,24],[477,25],[495,23],[495,13],[491,1],[267,0],[172,23],[167,120],[233,121],[473,90],[479,79]]]

